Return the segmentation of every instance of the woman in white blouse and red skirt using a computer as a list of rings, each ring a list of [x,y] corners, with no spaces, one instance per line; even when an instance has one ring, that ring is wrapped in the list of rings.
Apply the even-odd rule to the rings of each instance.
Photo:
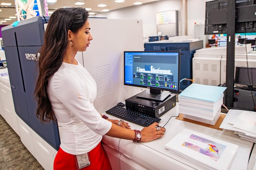
[[[87,19],[88,12],[81,7],[56,10],[39,50],[36,114],[41,122],[58,121],[60,130],[54,170],[110,170],[101,145],[103,135],[148,142],[165,132],[165,128],[156,128],[158,123],[141,131],[131,130],[128,123],[108,119],[95,110],[95,81],[75,59],[75,54],[85,51],[93,39]]]

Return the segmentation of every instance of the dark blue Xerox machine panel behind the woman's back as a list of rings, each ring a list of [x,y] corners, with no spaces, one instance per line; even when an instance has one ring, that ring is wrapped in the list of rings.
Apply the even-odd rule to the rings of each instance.
[[[39,136],[59,149],[60,137],[58,126],[52,121],[40,123],[36,116],[37,103],[33,92],[37,77],[37,58],[35,57],[43,44],[44,24],[49,17],[33,17],[2,28],[5,56],[17,115]]]

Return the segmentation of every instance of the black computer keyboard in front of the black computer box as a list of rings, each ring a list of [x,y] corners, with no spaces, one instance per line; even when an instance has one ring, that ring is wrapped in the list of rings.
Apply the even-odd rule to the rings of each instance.
[[[161,121],[161,118],[154,118],[152,116],[148,116],[146,114],[132,111],[120,106],[114,106],[113,108],[110,108],[108,111],[106,111],[106,113],[118,118],[122,118],[126,121],[131,121],[144,127],[149,126],[154,122],[159,123],[159,121]]]

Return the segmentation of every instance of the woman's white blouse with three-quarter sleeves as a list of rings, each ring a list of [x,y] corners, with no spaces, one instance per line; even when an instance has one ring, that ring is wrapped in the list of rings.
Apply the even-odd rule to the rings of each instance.
[[[97,87],[80,64],[64,63],[50,78],[48,96],[58,120],[60,148],[79,155],[95,148],[112,123],[101,118],[93,106]]]

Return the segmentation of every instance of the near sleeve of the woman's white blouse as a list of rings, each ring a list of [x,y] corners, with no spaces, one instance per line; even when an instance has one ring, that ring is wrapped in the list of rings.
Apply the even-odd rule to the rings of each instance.
[[[51,93],[88,128],[99,135],[105,135],[110,130],[112,123],[103,119],[94,108],[93,103],[86,98],[81,81],[79,76],[72,74],[54,75],[50,87]]]

